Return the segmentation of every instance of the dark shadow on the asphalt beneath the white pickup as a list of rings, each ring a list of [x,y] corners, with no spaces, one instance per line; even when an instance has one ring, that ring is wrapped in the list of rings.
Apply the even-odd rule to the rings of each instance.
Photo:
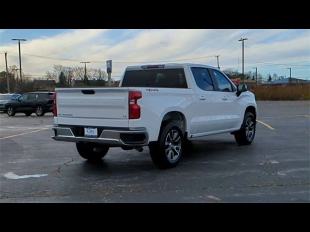
[[[203,141],[195,140],[191,143],[189,152],[183,154],[182,159],[177,167],[167,170],[174,172],[187,168],[195,167],[197,162],[220,162],[223,158],[234,156],[232,147],[238,147],[233,141]],[[131,154],[130,154],[131,153]],[[127,151],[121,154],[118,158],[109,159],[115,154],[108,153],[103,160],[92,162],[86,160],[81,163],[80,172],[83,174],[132,174],[140,172],[155,172],[166,171],[158,169],[153,164],[149,155],[148,148],[145,147],[143,152]],[[241,154],[240,154],[241,155]],[[125,158],[125,159],[124,159]],[[128,159],[126,159],[128,158]],[[225,159],[224,158],[224,159]],[[186,163],[186,165],[183,165]]]

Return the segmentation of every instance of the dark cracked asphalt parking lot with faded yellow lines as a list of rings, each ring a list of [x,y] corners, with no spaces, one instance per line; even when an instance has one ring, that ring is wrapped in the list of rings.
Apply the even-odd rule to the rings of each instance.
[[[192,142],[173,169],[110,148],[94,164],[51,139],[52,114],[0,114],[0,202],[310,202],[310,102],[258,102],[254,142]],[[34,115],[34,114],[33,114]]]

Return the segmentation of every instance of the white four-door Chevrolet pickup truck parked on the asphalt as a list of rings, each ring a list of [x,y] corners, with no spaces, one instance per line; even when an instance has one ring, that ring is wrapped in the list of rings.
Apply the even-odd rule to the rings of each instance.
[[[119,87],[57,88],[53,130],[75,142],[87,160],[109,147],[143,150],[159,168],[174,167],[187,140],[231,132],[239,145],[255,135],[257,106],[246,85],[235,86],[201,64],[130,66]]]

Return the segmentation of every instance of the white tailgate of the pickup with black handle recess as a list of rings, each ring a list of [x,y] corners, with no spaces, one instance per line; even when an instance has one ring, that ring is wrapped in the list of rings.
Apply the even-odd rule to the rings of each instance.
[[[128,127],[128,88],[60,88],[57,123]]]

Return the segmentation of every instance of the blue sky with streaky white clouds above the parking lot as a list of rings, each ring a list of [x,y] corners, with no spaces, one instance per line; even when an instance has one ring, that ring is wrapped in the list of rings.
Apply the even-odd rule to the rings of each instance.
[[[119,79],[128,65],[139,63],[190,62],[242,71],[242,42],[245,41],[245,72],[258,68],[263,75],[278,73],[310,77],[309,29],[0,29],[0,71],[19,66],[30,75],[45,75],[54,64],[106,69],[113,60],[112,77]],[[68,60],[67,60],[68,59]]]

